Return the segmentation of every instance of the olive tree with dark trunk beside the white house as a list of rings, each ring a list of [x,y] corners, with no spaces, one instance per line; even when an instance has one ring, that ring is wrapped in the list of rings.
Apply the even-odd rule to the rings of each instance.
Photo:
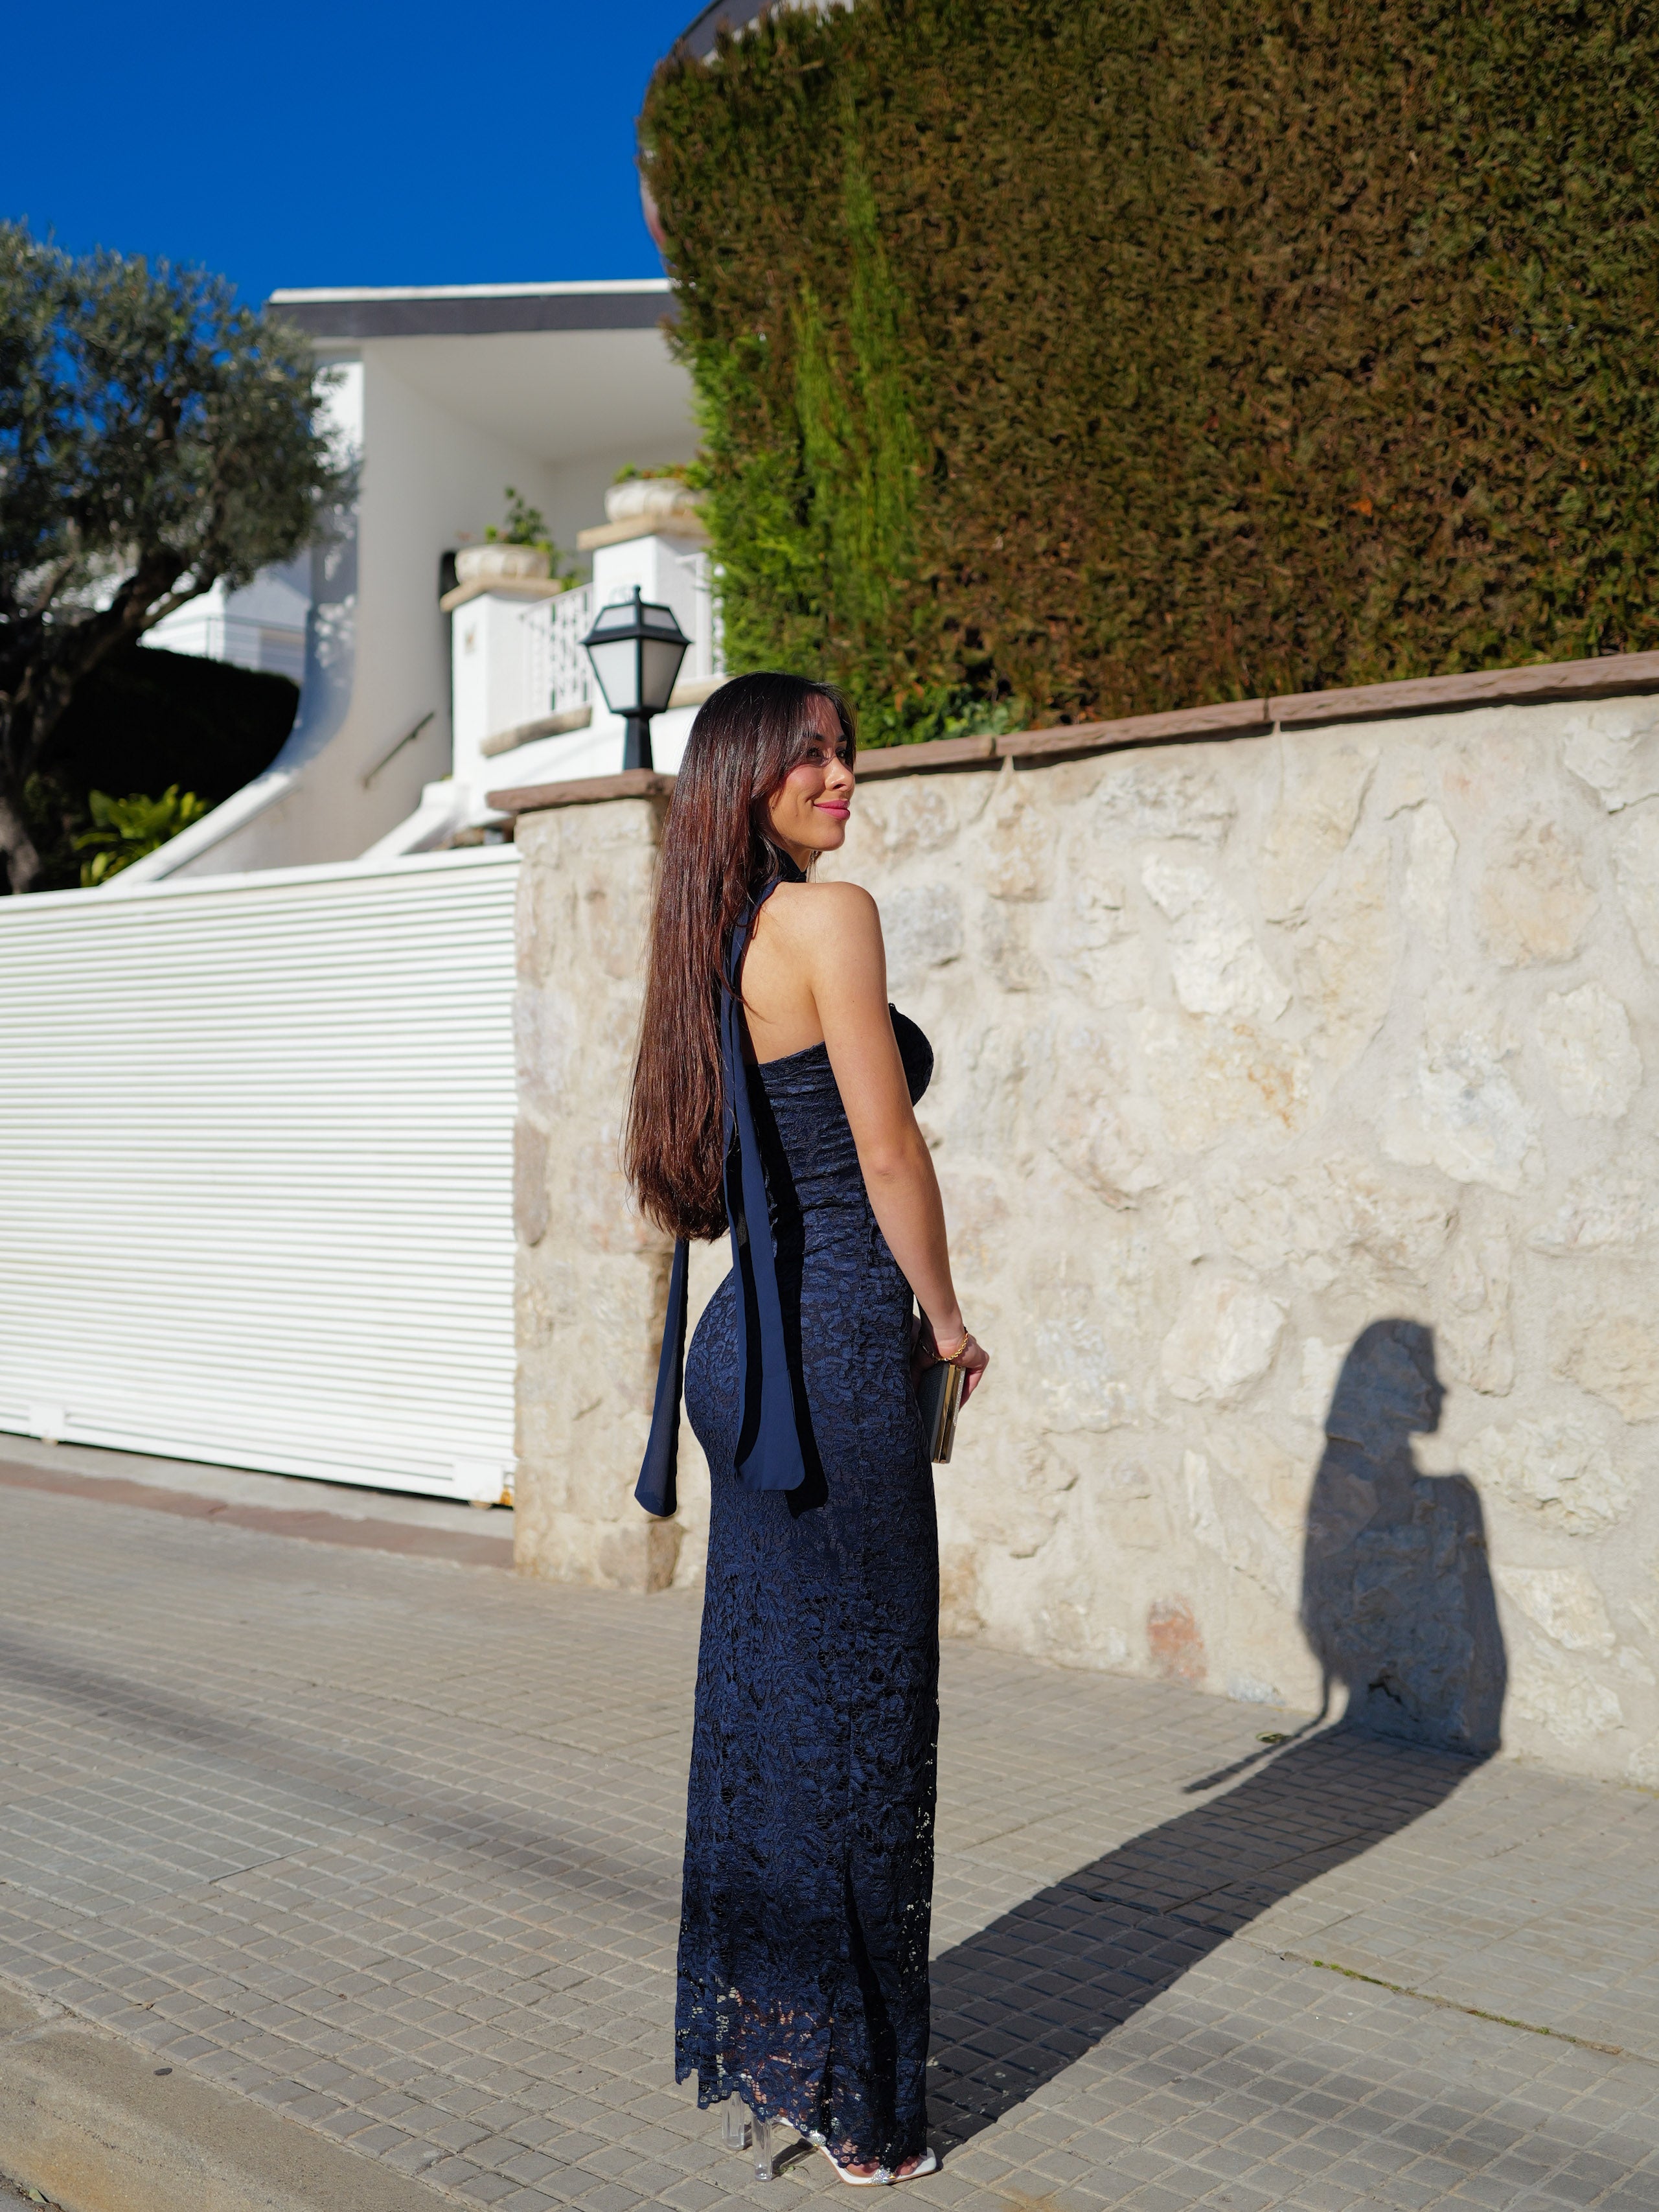
[[[29,779],[75,686],[347,495],[305,336],[223,279],[0,223],[0,860],[40,876]]]

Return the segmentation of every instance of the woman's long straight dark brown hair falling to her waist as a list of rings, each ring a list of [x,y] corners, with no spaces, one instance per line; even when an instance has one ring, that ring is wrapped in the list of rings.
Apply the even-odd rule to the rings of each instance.
[[[750,891],[779,874],[768,801],[836,710],[847,759],[852,710],[807,677],[732,677],[692,723],[668,810],[650,916],[646,1004],[633,1064],[624,1168],[641,1212],[675,1237],[719,1237],[721,962]]]

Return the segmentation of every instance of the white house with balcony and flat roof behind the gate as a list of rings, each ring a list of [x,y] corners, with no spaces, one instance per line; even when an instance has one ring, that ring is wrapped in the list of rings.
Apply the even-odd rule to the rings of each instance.
[[[263,668],[288,650],[292,668],[301,633],[299,719],[263,776],[111,891],[434,849],[487,832],[489,785],[617,768],[622,723],[588,697],[575,639],[633,584],[692,637],[686,703],[657,726],[672,765],[719,668],[701,529],[684,502],[606,515],[624,467],[695,451],[668,281],[276,292],[272,305],[338,369],[356,502],[307,560],[181,611],[157,644]],[[442,591],[445,562],[482,544],[509,484],[562,549],[591,553],[591,586]]]

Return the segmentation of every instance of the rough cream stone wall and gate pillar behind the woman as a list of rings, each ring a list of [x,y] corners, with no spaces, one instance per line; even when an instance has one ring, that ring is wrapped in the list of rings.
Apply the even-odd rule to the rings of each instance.
[[[520,1542],[639,1588],[706,1520],[690,1438],[679,1531],[628,1502],[659,807],[520,823]],[[1659,703],[883,772],[834,872],[995,1354],[947,1630],[1659,1785]]]

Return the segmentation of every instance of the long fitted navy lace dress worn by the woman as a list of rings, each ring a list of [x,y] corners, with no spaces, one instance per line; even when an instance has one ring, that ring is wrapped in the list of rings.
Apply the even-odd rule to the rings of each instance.
[[[894,1013],[911,1097],[933,1053]],[[805,1482],[748,1489],[743,1276],[686,1358],[712,1509],[679,1929],[677,2079],[843,2161],[925,2148],[938,1752],[933,1469],[911,1292],[821,1044],[748,1071]],[[752,1210],[750,1210],[752,1217]]]

